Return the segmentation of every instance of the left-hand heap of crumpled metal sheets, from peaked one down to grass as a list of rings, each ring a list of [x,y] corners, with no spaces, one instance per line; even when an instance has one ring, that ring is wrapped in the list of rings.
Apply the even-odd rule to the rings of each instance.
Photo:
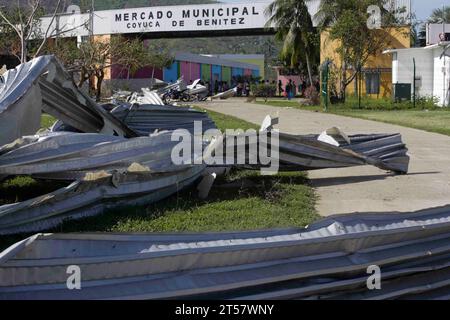
[[[22,64],[4,79],[0,177],[30,176],[70,185],[0,206],[0,234],[48,230],[106,209],[149,204],[194,184],[204,173],[202,162],[173,164],[171,130],[192,130],[193,121],[215,128],[205,112],[119,103],[108,112],[76,88],[53,56]],[[38,131],[43,111],[59,121],[51,132],[27,136]],[[203,141],[201,148],[207,146]]]

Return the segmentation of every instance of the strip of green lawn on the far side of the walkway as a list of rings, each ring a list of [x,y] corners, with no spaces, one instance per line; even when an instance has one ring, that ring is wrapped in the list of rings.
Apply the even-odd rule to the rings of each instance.
[[[300,110],[323,112],[322,107],[301,106],[296,101],[264,101],[258,100],[258,104],[266,104],[275,107],[290,107]],[[410,127],[429,132],[450,135],[450,109],[404,109],[404,110],[367,110],[354,109],[346,106],[330,106],[329,113],[354,117],[366,120],[380,121],[390,124],[396,124],[404,127]]]

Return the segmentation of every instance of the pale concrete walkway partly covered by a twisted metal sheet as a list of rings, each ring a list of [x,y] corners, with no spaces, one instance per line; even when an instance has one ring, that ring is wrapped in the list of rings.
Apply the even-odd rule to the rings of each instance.
[[[411,156],[410,173],[393,176],[370,166],[311,171],[323,216],[352,212],[408,212],[450,204],[450,137],[374,121],[277,108],[243,100],[208,102],[202,107],[256,124],[279,114],[279,129],[319,134],[337,126],[347,134],[401,133]]]

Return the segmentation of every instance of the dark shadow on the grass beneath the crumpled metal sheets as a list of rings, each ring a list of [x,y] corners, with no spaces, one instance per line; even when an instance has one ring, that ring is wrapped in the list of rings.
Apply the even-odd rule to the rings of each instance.
[[[256,203],[257,205],[253,207],[248,207],[248,204],[242,204],[243,211],[248,210],[249,213],[253,215],[253,219],[258,219],[258,213],[263,209],[267,209],[271,206],[277,207],[279,202],[283,202],[283,198],[285,196],[290,196],[293,198],[298,198],[299,201],[302,201],[301,197],[303,196],[305,199],[310,199],[313,196],[312,189],[308,186],[308,179],[306,175],[303,173],[281,173],[276,176],[261,176],[259,172],[251,172],[251,171],[236,171],[230,173],[226,177],[222,177],[218,179],[213,186],[209,197],[206,200],[199,199],[197,196],[197,190],[195,187],[190,187],[179,193],[172,195],[171,197],[157,202],[155,204],[151,204],[148,206],[139,206],[139,207],[130,207],[125,209],[115,209],[109,210],[102,215],[83,218],[75,221],[67,221],[61,224],[59,227],[54,228],[52,230],[48,230],[50,233],[70,233],[70,232],[110,232],[116,231],[117,226],[121,224],[131,224],[130,232],[133,232],[133,227],[135,227],[136,231],[142,231],[142,226],[139,225],[140,222],[151,223],[155,219],[159,219],[161,217],[165,217],[168,214],[177,213],[178,215],[188,215],[192,212],[203,210],[205,208],[212,209],[207,216],[207,219],[214,219],[217,217],[220,221],[220,214],[216,211],[220,211],[223,209],[222,204],[236,203],[239,206],[240,202],[249,201],[251,203]],[[40,184],[40,183],[39,183]],[[44,184],[45,185],[45,184]],[[292,188],[296,188],[298,186],[302,194],[298,196],[296,194],[292,194]],[[18,189],[21,189],[18,187]],[[9,194],[13,195],[14,191],[18,189],[12,188],[9,190]],[[27,188],[25,188],[27,189]],[[50,188],[51,191],[54,188]],[[42,191],[42,190],[41,190]],[[311,194],[309,193],[311,192]],[[30,192],[28,195],[31,195]],[[40,193],[42,194],[42,193]],[[250,200],[251,199],[251,200]],[[292,201],[293,200],[286,200]],[[306,201],[304,201],[306,202]],[[314,216],[314,199],[310,199],[311,203],[305,204],[306,206],[310,206],[307,209],[303,209],[306,214],[305,219],[310,219],[310,217]],[[247,206],[245,206],[247,205]],[[225,205],[224,205],[225,206]],[[294,203],[292,207],[295,207]],[[215,210],[217,209],[217,210]],[[230,210],[226,207],[223,210]],[[302,208],[298,208],[300,212],[302,212]],[[208,210],[206,210],[208,211]],[[292,211],[292,209],[291,209]],[[279,214],[278,212],[276,213]],[[292,219],[292,217],[288,215],[288,219]],[[291,214],[292,215],[292,214]],[[174,220],[177,219],[176,216],[172,216]],[[199,217],[199,219],[204,218],[204,216]],[[178,216],[179,219],[179,216]],[[229,219],[229,217],[225,218]],[[264,216],[261,215],[260,219],[264,219]],[[169,219],[170,220],[170,219]],[[130,222],[131,221],[131,222]],[[252,227],[252,219],[248,221],[248,229],[257,229],[258,223],[256,223],[255,227]],[[286,224],[286,221],[283,221]],[[175,225],[182,224],[181,221],[175,221]],[[208,225],[211,225],[211,222],[198,222],[198,226],[201,227],[202,223],[205,223],[205,228],[208,228]],[[220,223],[220,222],[217,222]],[[264,223],[264,222],[259,222]],[[275,222],[276,223],[276,222]],[[134,225],[135,224],[135,225]],[[166,230],[170,229],[170,222],[168,223],[168,227],[164,226],[164,230],[155,230],[155,231],[172,231]],[[144,226],[144,228],[148,226]],[[192,226],[191,226],[192,227]],[[227,225],[220,226],[224,230],[227,229]],[[130,227],[127,228],[127,230]],[[173,230],[177,231],[177,230]],[[214,231],[214,230],[202,230],[202,231]],[[34,234],[34,233],[32,233]],[[32,235],[32,234],[24,234],[24,235],[14,235],[14,236],[4,236],[0,237],[0,252],[11,244],[23,240],[24,238]]]

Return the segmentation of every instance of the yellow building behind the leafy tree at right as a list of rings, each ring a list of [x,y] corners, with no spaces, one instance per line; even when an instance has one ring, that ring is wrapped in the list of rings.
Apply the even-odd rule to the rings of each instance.
[[[384,29],[383,32],[389,37],[387,42],[390,49],[410,48],[411,28],[409,26]],[[320,42],[321,63],[331,60],[335,68],[340,69],[342,62],[339,54],[336,52],[339,42],[331,40],[326,31],[321,33]],[[362,78],[359,81],[355,79],[347,86],[347,95],[355,94],[358,83],[360,83],[363,96],[372,98],[390,98],[392,96],[392,57],[382,53],[385,49],[388,48],[383,48],[376,56],[368,59],[367,63],[362,67]],[[353,72],[349,71],[348,76],[351,74]]]

